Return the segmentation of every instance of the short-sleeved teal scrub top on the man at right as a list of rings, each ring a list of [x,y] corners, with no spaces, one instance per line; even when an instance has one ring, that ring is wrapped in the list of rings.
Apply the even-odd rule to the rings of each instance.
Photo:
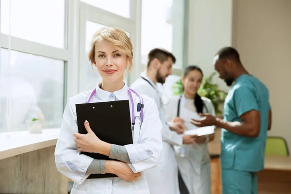
[[[251,110],[260,112],[258,137],[221,132],[222,168],[258,172],[264,168],[264,154],[270,110],[269,91],[255,76],[243,74],[231,86],[224,104],[225,121],[242,121],[240,116]]]

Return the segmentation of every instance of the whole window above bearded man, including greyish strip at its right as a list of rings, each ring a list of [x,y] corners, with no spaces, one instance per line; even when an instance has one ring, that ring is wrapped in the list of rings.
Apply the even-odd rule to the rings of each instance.
[[[142,64],[146,64],[151,49],[163,48],[177,59],[173,74],[180,74],[187,66],[187,3],[188,0],[142,0]]]

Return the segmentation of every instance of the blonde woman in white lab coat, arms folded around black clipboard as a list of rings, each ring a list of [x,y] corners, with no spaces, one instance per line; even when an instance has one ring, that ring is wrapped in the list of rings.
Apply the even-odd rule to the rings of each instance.
[[[139,96],[123,81],[126,70],[132,67],[132,57],[132,43],[124,31],[102,28],[94,35],[89,61],[102,81],[92,91],[69,98],[55,149],[58,170],[74,181],[71,194],[150,194],[143,171],[155,167],[160,160],[162,123],[154,100]],[[113,100],[129,100],[131,119],[135,118],[131,145],[101,141],[86,121],[83,125],[88,133],[78,133],[76,104]],[[142,100],[143,113],[137,108]],[[80,151],[103,154],[116,161],[96,160]],[[118,177],[87,179],[91,174],[105,173]]]

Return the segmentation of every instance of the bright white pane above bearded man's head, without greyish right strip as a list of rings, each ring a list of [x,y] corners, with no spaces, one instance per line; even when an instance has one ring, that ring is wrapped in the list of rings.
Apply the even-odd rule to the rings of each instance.
[[[146,56],[151,49],[163,48],[172,52],[173,26],[168,16],[172,4],[173,0],[142,0],[143,64],[146,64]]]

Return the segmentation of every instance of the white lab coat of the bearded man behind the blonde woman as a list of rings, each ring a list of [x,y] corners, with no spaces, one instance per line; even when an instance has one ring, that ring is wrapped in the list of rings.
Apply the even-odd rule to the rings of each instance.
[[[144,79],[138,78],[130,88],[140,94],[155,99],[162,121],[162,155],[159,164],[155,168],[145,171],[148,186],[151,194],[179,194],[178,164],[173,145],[182,145],[183,138],[175,131],[169,129],[161,100],[162,94],[158,91],[156,84],[145,75],[143,75],[143,77],[150,81],[154,87]]]

